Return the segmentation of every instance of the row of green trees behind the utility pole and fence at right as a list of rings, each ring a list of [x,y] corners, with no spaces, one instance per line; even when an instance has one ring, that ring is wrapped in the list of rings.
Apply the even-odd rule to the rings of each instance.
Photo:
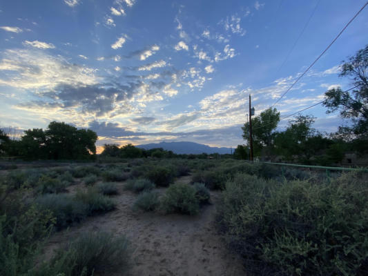
[[[368,45],[340,64],[340,77],[349,77],[354,89],[340,87],[325,92],[322,105],[327,113],[340,112],[349,124],[339,126],[334,133],[319,132],[312,127],[316,117],[297,115],[287,129],[277,131],[280,112],[268,108],[252,119],[253,152],[255,157],[278,161],[298,161],[303,164],[331,165],[345,156],[368,153]],[[249,140],[249,123],[242,126],[243,138]],[[238,145],[234,155],[247,159],[249,144]]]

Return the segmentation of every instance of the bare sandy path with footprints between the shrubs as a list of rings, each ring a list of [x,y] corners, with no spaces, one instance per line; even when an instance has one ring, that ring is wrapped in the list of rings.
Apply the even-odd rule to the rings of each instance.
[[[189,181],[190,177],[177,180]],[[128,274],[114,276],[245,275],[240,260],[229,253],[216,233],[213,221],[220,192],[211,192],[213,204],[205,206],[200,215],[160,215],[133,212],[131,207],[137,195],[124,191],[123,185],[119,184],[120,195],[114,197],[116,210],[52,235],[48,250],[79,233],[102,230],[126,235],[134,248],[133,266]]]

